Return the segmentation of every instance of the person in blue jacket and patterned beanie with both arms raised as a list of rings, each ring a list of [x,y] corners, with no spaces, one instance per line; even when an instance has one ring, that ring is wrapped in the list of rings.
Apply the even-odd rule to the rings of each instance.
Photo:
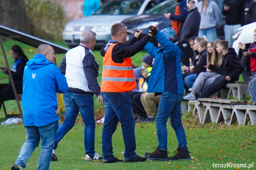
[[[158,47],[147,43],[144,49],[155,58],[148,82],[148,93],[160,95],[158,113],[155,124],[158,135],[158,147],[153,153],[145,153],[150,160],[190,160],[187,141],[181,121],[181,101],[184,95],[180,57],[183,55],[183,46],[173,40],[175,31],[172,27],[158,32],[157,26],[149,27],[155,34]],[[173,157],[168,158],[167,152],[167,127],[166,122],[170,117],[171,127],[174,129],[178,148]]]

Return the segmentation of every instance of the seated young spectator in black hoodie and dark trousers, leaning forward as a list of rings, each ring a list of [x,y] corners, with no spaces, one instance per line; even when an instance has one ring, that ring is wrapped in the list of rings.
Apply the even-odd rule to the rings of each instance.
[[[244,67],[236,57],[234,48],[228,48],[228,41],[221,40],[217,44],[217,51],[222,54],[222,65],[217,67],[214,65],[207,65],[206,68],[211,69],[213,72],[220,74],[212,84],[202,90],[198,98],[209,98],[212,94],[225,87],[227,83],[234,83],[239,79],[239,75],[244,71]]]

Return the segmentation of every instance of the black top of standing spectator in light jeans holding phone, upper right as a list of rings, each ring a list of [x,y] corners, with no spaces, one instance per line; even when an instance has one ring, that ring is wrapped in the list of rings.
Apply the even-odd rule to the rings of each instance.
[[[222,7],[222,14],[226,16],[226,24],[227,25],[236,25],[236,24],[241,24],[244,25],[243,23],[243,18],[244,17],[244,5],[245,5],[245,0],[224,0],[223,1],[223,6],[227,5],[230,7],[228,11],[225,11],[224,8]]]

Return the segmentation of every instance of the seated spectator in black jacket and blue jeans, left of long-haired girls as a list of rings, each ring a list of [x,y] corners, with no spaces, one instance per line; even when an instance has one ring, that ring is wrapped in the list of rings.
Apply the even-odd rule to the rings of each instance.
[[[193,72],[194,74],[188,75],[184,79],[184,83],[188,89],[192,88],[195,82],[195,79],[199,75],[199,73],[206,71],[206,68],[204,67],[207,64],[206,48],[207,48],[207,41],[202,40],[198,43],[197,51],[199,52],[199,54],[195,58],[197,60],[194,66],[195,70],[193,72],[193,70],[190,69],[190,72]]]

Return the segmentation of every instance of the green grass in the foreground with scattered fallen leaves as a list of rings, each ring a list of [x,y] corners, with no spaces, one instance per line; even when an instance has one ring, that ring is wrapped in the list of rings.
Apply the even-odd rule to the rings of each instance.
[[[187,117],[187,118],[185,118]],[[200,124],[198,119],[186,115],[182,118],[187,136],[187,146],[191,161],[150,161],[142,163],[102,164],[100,161],[85,161],[83,124],[75,124],[60,141],[55,151],[57,162],[51,162],[51,170],[82,170],[82,169],[213,169],[212,163],[253,163],[255,161],[255,126],[226,126],[223,124]],[[95,151],[101,151],[102,124],[96,125]],[[177,139],[170,123],[168,127],[168,155],[173,156],[177,147]],[[158,146],[155,123],[139,123],[135,126],[136,153],[144,156]],[[21,146],[26,140],[23,125],[0,126],[0,169],[10,169],[16,160]],[[121,126],[112,138],[114,156],[124,159],[124,143]],[[40,154],[40,145],[26,163],[27,170],[36,169]],[[255,162],[256,163],[256,162]],[[218,168],[214,168],[218,169]],[[228,168],[235,169],[235,168]],[[243,169],[243,168],[241,168]]]

